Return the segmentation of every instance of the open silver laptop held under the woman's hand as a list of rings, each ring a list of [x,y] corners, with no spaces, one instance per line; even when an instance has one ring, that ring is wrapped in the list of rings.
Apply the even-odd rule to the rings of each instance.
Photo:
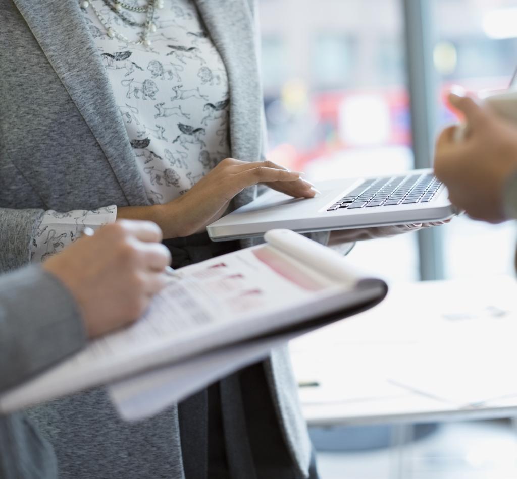
[[[442,221],[457,211],[431,169],[316,183],[322,194],[294,199],[269,190],[207,227],[213,241],[262,236],[275,228],[298,233]]]

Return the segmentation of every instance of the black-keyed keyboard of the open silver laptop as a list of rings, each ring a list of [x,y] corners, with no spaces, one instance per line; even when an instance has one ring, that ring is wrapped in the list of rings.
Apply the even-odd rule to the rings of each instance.
[[[369,179],[350,191],[327,211],[396,204],[428,203],[442,183],[432,173]]]

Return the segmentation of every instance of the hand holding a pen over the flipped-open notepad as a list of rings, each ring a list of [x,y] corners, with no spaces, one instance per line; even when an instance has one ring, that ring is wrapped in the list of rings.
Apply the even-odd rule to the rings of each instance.
[[[71,292],[88,337],[138,319],[165,285],[169,250],[147,221],[118,221],[83,237],[43,263]]]

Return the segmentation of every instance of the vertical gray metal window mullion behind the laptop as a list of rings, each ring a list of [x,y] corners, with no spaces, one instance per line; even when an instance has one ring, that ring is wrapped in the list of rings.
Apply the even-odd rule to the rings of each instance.
[[[432,0],[402,0],[406,65],[415,168],[429,168],[434,154],[439,78],[433,65]],[[418,233],[420,279],[444,278],[443,237],[439,229]]]

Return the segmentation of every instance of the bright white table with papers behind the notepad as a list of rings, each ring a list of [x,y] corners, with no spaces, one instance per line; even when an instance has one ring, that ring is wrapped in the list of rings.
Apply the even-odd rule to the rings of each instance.
[[[309,425],[395,424],[403,477],[413,424],[517,417],[516,340],[517,281],[496,277],[394,285],[291,350],[298,380],[317,384],[300,388]]]

